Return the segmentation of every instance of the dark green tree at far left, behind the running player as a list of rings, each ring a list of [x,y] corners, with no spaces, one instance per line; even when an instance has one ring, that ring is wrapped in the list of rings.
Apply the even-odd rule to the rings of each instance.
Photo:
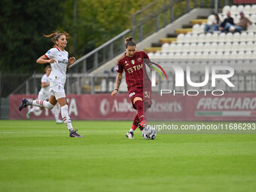
[[[1,0],[0,71],[43,72],[36,59],[53,44],[42,33],[62,26],[62,5],[55,0]]]

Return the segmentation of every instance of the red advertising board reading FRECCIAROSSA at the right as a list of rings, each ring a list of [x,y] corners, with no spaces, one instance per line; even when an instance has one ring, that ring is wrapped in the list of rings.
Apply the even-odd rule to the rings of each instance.
[[[186,120],[256,120],[256,93],[187,96]]]

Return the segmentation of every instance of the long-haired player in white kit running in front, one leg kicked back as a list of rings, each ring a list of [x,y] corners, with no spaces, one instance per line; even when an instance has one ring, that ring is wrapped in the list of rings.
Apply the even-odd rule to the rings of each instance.
[[[69,68],[74,62],[75,57],[69,58],[69,53],[65,50],[67,45],[66,38],[69,38],[67,32],[53,32],[50,35],[44,35],[47,38],[51,38],[54,42],[54,47],[47,51],[43,56],[40,56],[36,62],[39,64],[50,63],[52,71],[50,72],[50,99],[49,102],[43,99],[28,101],[23,99],[19,110],[26,108],[27,105],[34,105],[38,107],[50,108],[52,109],[56,102],[60,105],[60,111],[62,119],[69,129],[70,137],[83,137],[77,133],[77,130],[73,129],[71,119],[68,113],[68,105],[66,102],[66,93],[64,90],[64,85],[66,82],[66,69]]]

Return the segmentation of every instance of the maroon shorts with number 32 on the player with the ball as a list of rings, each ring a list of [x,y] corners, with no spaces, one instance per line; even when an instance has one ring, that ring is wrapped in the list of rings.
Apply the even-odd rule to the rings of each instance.
[[[152,95],[152,90],[151,87],[147,87],[147,88],[130,88],[128,90],[129,93],[129,97],[131,99],[131,102],[133,104],[133,99],[136,97],[140,97],[142,98],[142,101],[144,104],[148,104],[147,108],[151,108],[152,105],[152,100],[151,100],[151,95]],[[136,106],[133,104],[133,108],[136,109]]]

